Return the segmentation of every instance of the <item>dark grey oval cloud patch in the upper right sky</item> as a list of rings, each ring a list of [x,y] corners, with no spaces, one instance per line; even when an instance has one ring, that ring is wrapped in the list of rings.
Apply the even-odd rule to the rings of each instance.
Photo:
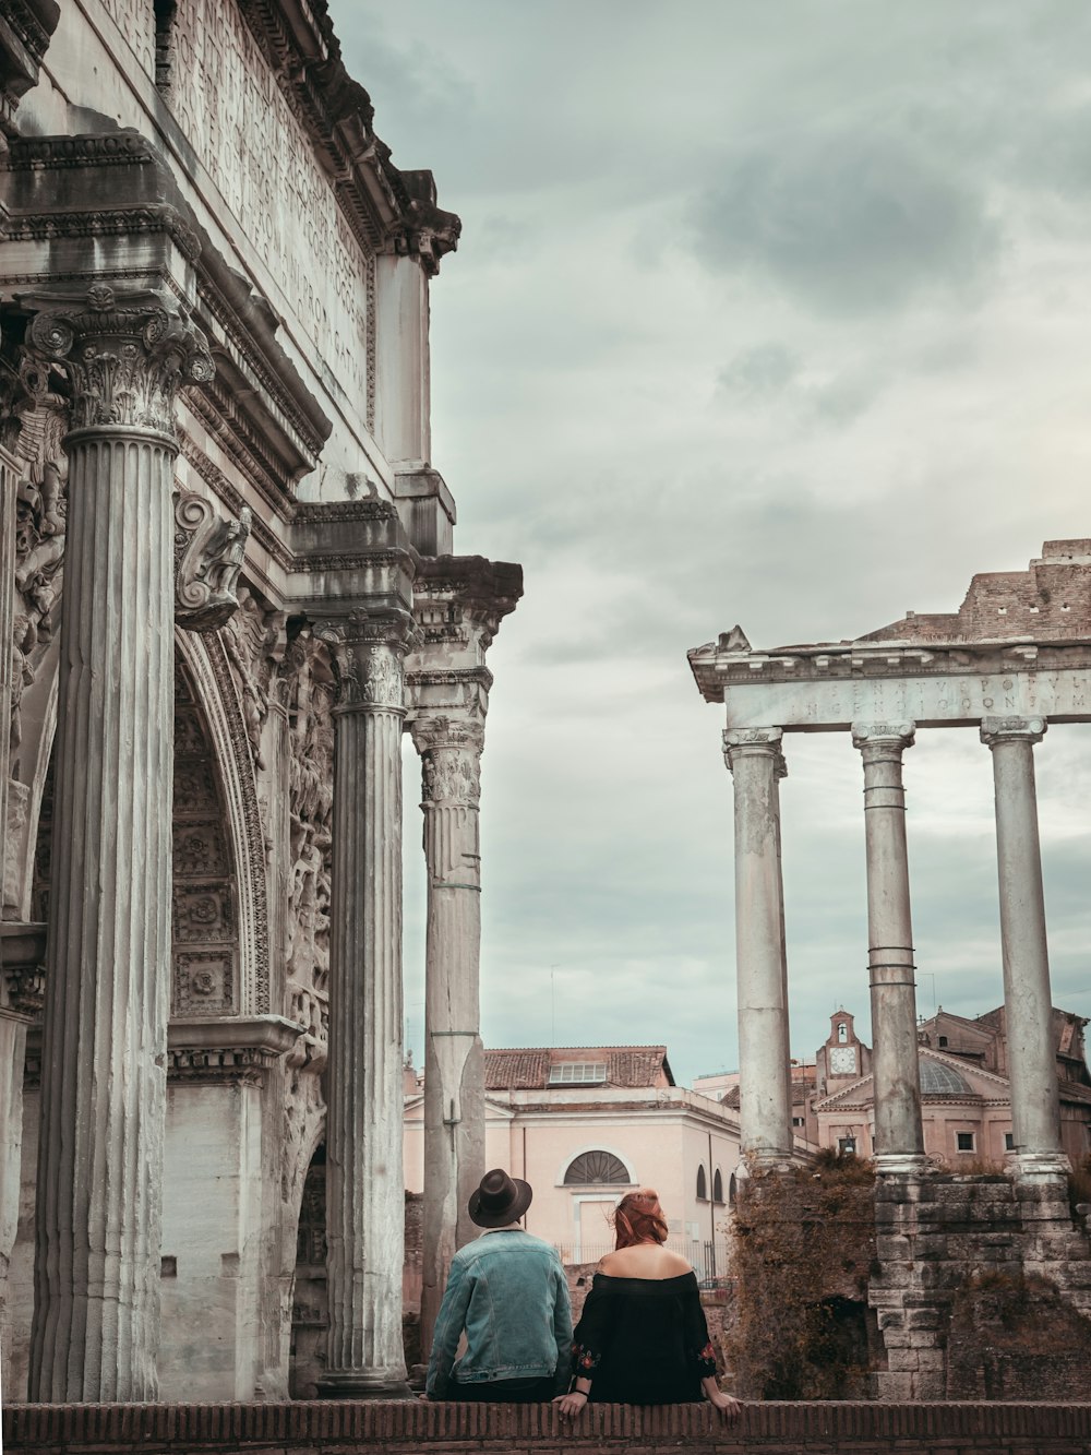
[[[966,176],[855,127],[729,151],[695,202],[692,246],[829,313],[898,308],[922,288],[966,291],[1001,228]]]

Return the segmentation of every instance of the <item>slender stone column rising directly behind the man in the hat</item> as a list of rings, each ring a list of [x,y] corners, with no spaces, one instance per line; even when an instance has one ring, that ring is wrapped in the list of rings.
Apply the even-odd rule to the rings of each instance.
[[[451,1259],[477,1234],[467,1202],[484,1174],[480,1033],[480,760],[484,728],[417,717],[428,938],[425,946],[425,1225],[420,1344],[432,1346]]]

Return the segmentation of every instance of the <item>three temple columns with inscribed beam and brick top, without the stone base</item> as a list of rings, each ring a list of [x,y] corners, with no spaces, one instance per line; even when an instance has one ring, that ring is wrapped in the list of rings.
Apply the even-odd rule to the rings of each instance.
[[[733,778],[740,1135],[756,1168],[791,1152],[788,975],[781,880],[784,741],[839,732],[863,770],[874,1147],[880,1174],[927,1168],[903,757],[922,729],[972,729],[992,757],[1004,1013],[1014,1152],[1024,1183],[1056,1183],[1062,1151],[1034,748],[1050,722],[1091,720],[1091,541],[1047,541],[1027,572],[973,578],[959,613],[847,642],[755,650],[735,627],[690,652],[726,709]]]

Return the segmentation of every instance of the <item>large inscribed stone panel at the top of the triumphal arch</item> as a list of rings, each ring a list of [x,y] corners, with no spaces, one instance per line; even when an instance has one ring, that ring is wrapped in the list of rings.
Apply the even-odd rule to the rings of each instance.
[[[173,33],[172,106],[182,129],[247,231],[247,244],[294,301],[332,378],[368,416],[374,258],[353,237],[233,0],[186,0]]]

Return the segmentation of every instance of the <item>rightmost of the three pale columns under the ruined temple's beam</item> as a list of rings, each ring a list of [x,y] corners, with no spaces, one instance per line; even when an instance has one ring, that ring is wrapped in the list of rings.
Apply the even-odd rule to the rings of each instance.
[[[1034,792],[1034,744],[1044,717],[986,717],[996,800],[1004,1021],[1011,1083],[1012,1165],[1026,1181],[1065,1177],[1053,998],[1049,985],[1046,901]]]

